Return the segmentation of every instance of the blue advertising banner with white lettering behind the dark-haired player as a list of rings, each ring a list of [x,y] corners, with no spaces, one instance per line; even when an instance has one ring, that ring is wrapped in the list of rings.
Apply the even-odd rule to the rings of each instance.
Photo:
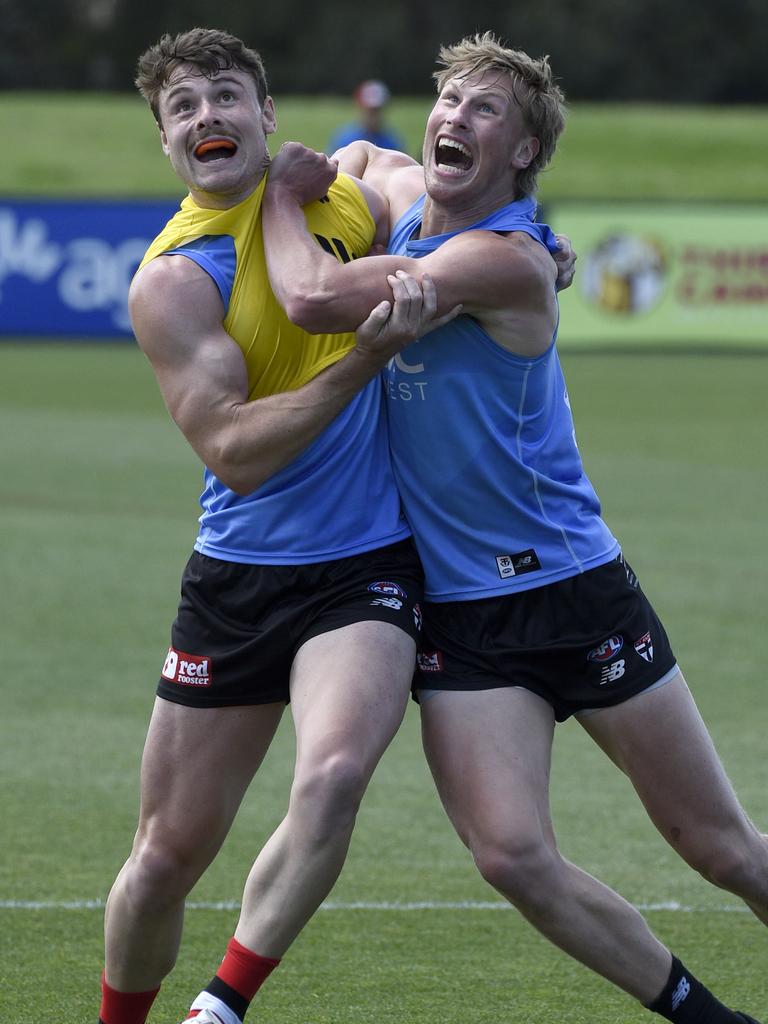
[[[0,335],[130,336],[128,286],[177,209],[0,200]]]

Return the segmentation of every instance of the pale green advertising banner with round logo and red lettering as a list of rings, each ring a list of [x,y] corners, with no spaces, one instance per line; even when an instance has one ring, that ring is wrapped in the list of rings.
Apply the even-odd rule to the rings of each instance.
[[[559,342],[768,346],[768,206],[552,202],[579,254]]]

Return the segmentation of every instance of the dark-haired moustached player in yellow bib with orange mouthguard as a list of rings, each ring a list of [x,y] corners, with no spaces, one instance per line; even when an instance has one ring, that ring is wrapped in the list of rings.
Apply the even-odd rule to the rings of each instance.
[[[335,883],[369,778],[397,730],[421,569],[389,459],[380,371],[432,326],[407,274],[356,333],[290,323],[266,275],[261,203],[274,104],[259,54],[224,32],[164,36],[136,84],[189,189],[130,290],[136,338],[205,465],[141,762],[138,827],[106,904],[99,1020],[143,1024],[218,852],[291,701],[287,815],[253,866],[234,937],[195,1000],[238,1024]],[[340,175],[307,222],[339,259],[385,238]]]

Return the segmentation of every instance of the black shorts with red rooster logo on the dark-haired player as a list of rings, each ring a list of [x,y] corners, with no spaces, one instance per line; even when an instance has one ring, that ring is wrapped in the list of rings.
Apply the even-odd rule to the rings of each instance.
[[[413,543],[312,565],[248,565],[194,552],[158,695],[190,708],[288,701],[294,656],[351,623],[392,623],[415,640],[422,572]]]

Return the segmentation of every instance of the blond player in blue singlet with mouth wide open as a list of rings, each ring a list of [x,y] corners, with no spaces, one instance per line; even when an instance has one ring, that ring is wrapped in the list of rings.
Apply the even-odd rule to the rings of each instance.
[[[264,203],[270,280],[299,323],[348,327],[394,269],[463,314],[393,357],[390,443],[428,601],[416,690],[442,802],[482,876],[542,934],[676,1024],[743,1024],[616,893],[559,853],[555,722],[578,721],[685,860],[768,924],[768,842],[740,807],[662,624],[584,474],[557,358],[537,175],[563,125],[546,59],[488,33],[440,53],[424,165],[339,154],[390,204],[390,255],[338,266],[301,204],[334,167],[289,147]],[[426,195],[425,195],[426,186]]]

